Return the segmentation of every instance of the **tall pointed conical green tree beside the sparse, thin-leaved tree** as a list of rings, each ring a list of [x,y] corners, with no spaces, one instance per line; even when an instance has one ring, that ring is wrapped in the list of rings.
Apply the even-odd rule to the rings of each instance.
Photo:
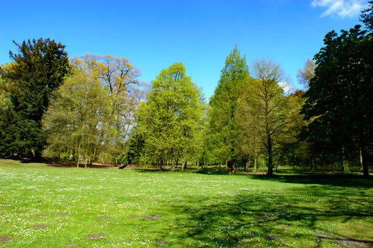
[[[218,86],[210,98],[210,127],[215,156],[221,161],[225,161],[232,173],[236,172],[239,152],[237,147],[237,137],[239,136],[238,100],[248,76],[249,68],[246,65],[246,58],[241,56],[237,47],[234,46],[234,50],[225,59],[225,66],[221,70]]]

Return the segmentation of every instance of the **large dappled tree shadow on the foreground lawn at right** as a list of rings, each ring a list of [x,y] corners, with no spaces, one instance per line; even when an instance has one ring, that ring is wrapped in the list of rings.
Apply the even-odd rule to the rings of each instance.
[[[322,242],[338,240],[365,242],[370,247],[372,240],[356,240],[329,228],[334,223],[373,216],[369,200],[361,205],[353,203],[352,207],[350,199],[345,197],[352,192],[341,193],[333,188],[310,185],[308,193],[302,187],[288,189],[288,194],[283,195],[258,195],[240,190],[225,198],[187,198],[170,206],[170,211],[180,216],[174,223],[177,238],[181,242],[193,240],[194,247],[252,247],[258,244],[263,247],[320,247]],[[331,190],[336,192],[330,196]],[[360,194],[369,199],[367,194]],[[320,198],[325,203],[319,203]],[[325,221],[330,222],[330,226],[321,225]],[[318,238],[314,233],[336,238]],[[290,245],[287,242],[296,243]],[[187,243],[184,245],[188,246]]]

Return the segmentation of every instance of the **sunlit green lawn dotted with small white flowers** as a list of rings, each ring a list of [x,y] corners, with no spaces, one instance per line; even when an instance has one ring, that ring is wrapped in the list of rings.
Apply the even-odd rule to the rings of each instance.
[[[335,239],[313,234],[372,242],[372,199],[372,179],[0,160],[0,240],[12,238],[0,247],[338,247]],[[134,215],[139,218],[128,218]],[[86,238],[91,234],[106,236]]]

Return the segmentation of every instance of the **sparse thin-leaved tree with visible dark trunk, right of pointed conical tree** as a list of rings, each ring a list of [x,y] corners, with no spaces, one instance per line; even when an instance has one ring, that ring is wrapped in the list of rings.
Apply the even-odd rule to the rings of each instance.
[[[287,82],[281,66],[270,60],[259,59],[253,62],[252,73],[245,89],[245,104],[248,108],[248,123],[268,154],[268,175],[273,173],[274,145],[278,143],[287,125],[286,102],[279,84]]]

